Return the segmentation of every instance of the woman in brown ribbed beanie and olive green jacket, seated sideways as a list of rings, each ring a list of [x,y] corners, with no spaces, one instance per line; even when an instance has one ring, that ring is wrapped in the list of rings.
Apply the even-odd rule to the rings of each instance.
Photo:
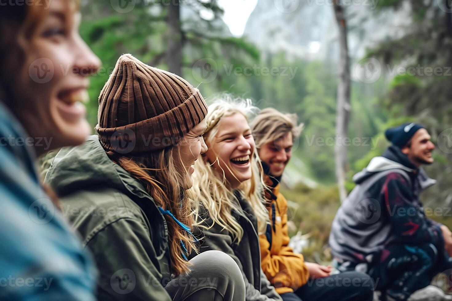
[[[46,181],[94,254],[99,300],[245,300],[230,256],[187,260],[206,114],[184,79],[122,55],[99,96],[98,136],[56,155]]]

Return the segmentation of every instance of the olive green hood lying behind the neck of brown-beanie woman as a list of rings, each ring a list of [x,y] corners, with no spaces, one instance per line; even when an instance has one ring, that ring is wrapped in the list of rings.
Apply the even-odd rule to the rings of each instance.
[[[149,197],[139,181],[110,160],[97,135],[89,136],[79,146],[61,148],[44,181],[60,196],[87,187],[109,186],[140,198]]]

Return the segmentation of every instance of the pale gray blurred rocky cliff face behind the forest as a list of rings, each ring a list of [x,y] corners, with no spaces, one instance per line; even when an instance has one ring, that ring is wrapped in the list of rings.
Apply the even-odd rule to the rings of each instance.
[[[409,26],[410,6],[375,14],[378,0],[346,6],[349,50],[361,59],[366,48],[398,37]],[[357,3],[344,0],[344,3]],[[259,0],[246,23],[244,37],[264,53],[283,51],[291,58],[337,60],[337,25],[331,0]]]

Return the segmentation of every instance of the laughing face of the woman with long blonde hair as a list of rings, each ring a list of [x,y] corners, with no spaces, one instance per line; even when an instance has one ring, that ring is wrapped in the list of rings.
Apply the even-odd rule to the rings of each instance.
[[[252,175],[251,157],[256,148],[250,126],[245,116],[235,113],[224,116],[217,124],[218,131],[207,139],[208,162],[235,188]]]

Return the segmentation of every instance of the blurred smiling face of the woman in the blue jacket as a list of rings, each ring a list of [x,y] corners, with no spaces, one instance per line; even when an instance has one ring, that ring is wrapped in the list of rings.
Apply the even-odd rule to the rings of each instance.
[[[6,65],[14,79],[10,107],[30,137],[47,138],[47,148],[81,144],[91,132],[83,104],[87,76],[100,60],[78,33],[80,13],[72,0],[52,0],[43,14],[31,37],[19,35],[21,67]],[[36,152],[46,152],[45,146],[36,144]]]

